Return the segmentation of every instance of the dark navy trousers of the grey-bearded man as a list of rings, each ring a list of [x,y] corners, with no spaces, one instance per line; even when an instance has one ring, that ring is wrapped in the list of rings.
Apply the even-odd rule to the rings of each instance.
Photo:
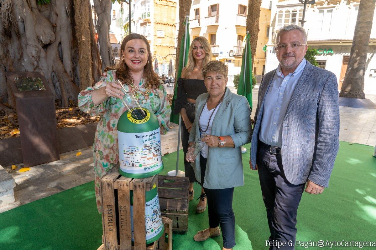
[[[257,163],[270,230],[269,250],[293,250],[296,214],[305,183],[289,183],[282,166],[282,156],[271,154],[262,146],[258,149]]]

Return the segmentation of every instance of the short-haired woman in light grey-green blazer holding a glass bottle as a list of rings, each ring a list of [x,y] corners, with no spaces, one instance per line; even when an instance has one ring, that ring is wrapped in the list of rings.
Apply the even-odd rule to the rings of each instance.
[[[227,65],[221,61],[210,61],[203,67],[208,93],[196,99],[196,116],[188,141],[192,145],[203,133],[208,134],[204,148],[190,161],[196,180],[200,180],[205,190],[209,210],[209,228],[199,231],[194,240],[219,236],[220,225],[223,250],[235,246],[232,197],[234,187],[244,185],[241,147],[252,136],[249,103],[246,97],[226,87],[227,73]]]

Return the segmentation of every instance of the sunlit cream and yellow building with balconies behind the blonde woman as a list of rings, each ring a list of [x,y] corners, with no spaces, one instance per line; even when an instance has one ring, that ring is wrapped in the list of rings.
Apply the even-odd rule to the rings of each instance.
[[[253,61],[253,73],[260,76],[265,71],[265,52],[262,48],[268,42],[271,3],[272,1],[263,0],[261,5],[260,30]],[[208,39],[213,54],[212,60],[227,62],[230,75],[240,73],[241,57],[246,37],[247,13],[247,0],[192,1],[189,15],[191,40],[197,36],[203,36]],[[176,20],[179,21],[178,16]],[[179,23],[177,23],[176,35],[178,29]]]

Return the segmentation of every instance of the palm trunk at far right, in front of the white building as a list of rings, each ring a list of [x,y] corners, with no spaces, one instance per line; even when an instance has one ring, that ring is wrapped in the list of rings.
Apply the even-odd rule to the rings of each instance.
[[[364,99],[364,73],[376,0],[361,0],[340,97]]]

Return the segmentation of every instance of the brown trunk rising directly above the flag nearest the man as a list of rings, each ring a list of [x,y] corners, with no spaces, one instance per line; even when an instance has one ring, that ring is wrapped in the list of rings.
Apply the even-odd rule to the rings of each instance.
[[[251,45],[252,65],[256,54],[257,38],[260,19],[260,6],[262,0],[249,0],[248,1],[248,14],[246,30],[249,31],[249,42]]]

